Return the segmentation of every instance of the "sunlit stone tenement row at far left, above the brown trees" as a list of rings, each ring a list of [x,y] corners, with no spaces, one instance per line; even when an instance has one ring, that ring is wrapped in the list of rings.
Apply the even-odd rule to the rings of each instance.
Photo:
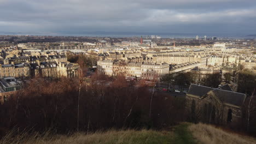
[[[0,78],[3,77],[78,77],[80,65],[66,62],[41,62],[0,64]]]

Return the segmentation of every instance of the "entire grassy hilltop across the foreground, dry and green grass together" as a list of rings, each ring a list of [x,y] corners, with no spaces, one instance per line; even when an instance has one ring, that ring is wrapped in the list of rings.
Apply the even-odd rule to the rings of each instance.
[[[192,133],[190,132],[192,131]],[[256,143],[255,139],[236,134],[230,134],[206,124],[182,123],[167,130],[109,130],[85,135],[77,133],[71,136],[28,136],[26,134],[10,139],[5,137],[0,144],[27,143],[27,144],[65,144],[65,143]]]

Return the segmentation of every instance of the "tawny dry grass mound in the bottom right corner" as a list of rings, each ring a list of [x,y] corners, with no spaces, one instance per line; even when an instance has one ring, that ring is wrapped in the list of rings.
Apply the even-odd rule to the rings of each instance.
[[[253,144],[256,143],[256,140],[252,137],[242,136],[234,133],[228,133],[219,128],[215,128],[207,124],[191,124],[189,130],[192,132],[192,135],[199,140],[201,143],[225,143],[225,144]]]

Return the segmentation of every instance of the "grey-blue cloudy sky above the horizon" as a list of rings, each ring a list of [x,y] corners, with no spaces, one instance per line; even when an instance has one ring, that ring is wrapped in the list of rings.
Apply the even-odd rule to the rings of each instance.
[[[256,34],[256,0],[0,0],[0,32]]]

